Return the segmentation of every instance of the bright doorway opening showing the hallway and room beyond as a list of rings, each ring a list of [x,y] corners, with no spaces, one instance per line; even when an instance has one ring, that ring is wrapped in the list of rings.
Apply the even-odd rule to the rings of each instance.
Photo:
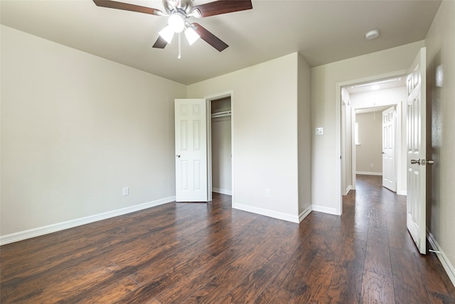
[[[400,195],[406,195],[406,168],[405,163],[402,163],[406,146],[405,128],[402,127],[402,121],[406,121],[406,100],[406,81],[402,75],[369,82],[359,80],[357,84],[341,87],[343,195],[355,189],[356,173],[383,175],[384,171],[387,173],[385,186]],[[391,120],[395,126],[390,133],[383,130],[382,112],[391,107],[394,107]],[[396,148],[394,155],[390,155],[390,143]]]

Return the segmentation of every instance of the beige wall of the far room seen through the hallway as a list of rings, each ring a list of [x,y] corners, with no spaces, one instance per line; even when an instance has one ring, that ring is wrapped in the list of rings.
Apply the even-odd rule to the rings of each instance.
[[[382,174],[382,112],[355,115],[360,145],[355,146],[356,173]],[[370,166],[373,163],[373,168]]]

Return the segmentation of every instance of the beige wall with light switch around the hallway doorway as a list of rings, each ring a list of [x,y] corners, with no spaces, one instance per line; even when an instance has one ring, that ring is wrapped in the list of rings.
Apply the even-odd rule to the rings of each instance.
[[[311,140],[311,202],[314,209],[340,214],[341,173],[339,112],[336,85],[376,75],[406,70],[424,41],[402,45],[311,69],[311,126],[323,127]],[[339,122],[341,124],[341,122]],[[313,133],[314,134],[314,133]]]

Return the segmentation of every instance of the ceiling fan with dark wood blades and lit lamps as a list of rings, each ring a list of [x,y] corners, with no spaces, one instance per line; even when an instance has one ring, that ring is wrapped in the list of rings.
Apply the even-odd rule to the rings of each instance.
[[[232,13],[235,11],[245,11],[252,9],[251,0],[219,0],[195,6],[193,0],[163,0],[164,10],[152,9],[146,6],[128,4],[112,0],[93,0],[97,6],[109,9],[122,9],[124,11],[137,11],[138,13],[149,13],[156,16],[168,16],[168,26],[159,32],[159,37],[154,44],[154,48],[165,48],[174,36],[174,33],[184,31],[188,43],[193,44],[198,38],[202,38],[206,43],[213,46],[218,51],[228,48],[220,38],[203,28],[199,23],[189,23],[190,17],[204,18],[208,16]]]

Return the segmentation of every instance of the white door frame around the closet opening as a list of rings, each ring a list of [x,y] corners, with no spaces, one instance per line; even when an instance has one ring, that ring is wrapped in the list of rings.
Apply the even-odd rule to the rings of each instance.
[[[209,202],[212,200],[212,101],[218,100],[221,98],[230,97],[230,134],[231,134],[231,154],[232,154],[232,162],[231,162],[231,178],[232,178],[232,200],[231,204],[235,202],[235,175],[234,175],[234,168],[235,168],[235,156],[234,156],[234,91],[231,89],[226,92],[221,92],[217,94],[211,94],[205,96],[205,104],[206,104],[206,111],[207,111],[207,195]]]

